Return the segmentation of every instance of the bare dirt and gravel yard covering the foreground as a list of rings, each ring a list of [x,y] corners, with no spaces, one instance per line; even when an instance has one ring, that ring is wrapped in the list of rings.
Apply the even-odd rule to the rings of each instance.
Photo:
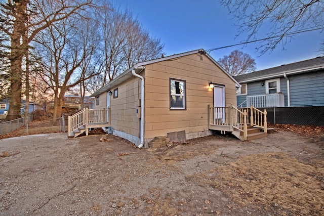
[[[3,137],[4,138],[4,137]],[[324,215],[324,135],[0,140],[0,215]]]

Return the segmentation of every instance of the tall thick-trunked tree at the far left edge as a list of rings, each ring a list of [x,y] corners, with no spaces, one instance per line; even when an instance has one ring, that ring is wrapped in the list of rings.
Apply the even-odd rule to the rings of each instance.
[[[92,0],[1,1],[0,34],[3,36],[1,47],[7,50],[10,62],[10,105],[7,120],[20,116],[23,56],[27,55],[31,40],[54,23],[92,6]]]

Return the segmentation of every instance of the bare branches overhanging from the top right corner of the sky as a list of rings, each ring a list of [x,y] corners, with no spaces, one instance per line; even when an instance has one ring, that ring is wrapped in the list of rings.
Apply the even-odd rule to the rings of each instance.
[[[220,0],[237,21],[238,35],[248,33],[246,41],[267,37],[259,46],[261,54],[282,46],[294,35],[324,29],[324,3],[320,0]],[[264,28],[266,26],[266,28]]]

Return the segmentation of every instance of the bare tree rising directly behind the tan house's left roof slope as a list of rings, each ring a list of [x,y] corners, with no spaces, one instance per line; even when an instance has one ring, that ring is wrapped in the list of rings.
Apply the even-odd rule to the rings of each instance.
[[[98,10],[96,19],[98,31],[102,35],[100,52],[103,72],[93,77],[90,92],[98,90],[119,73],[139,61],[158,58],[163,54],[164,45],[151,38],[129,10],[120,11],[111,5]]]

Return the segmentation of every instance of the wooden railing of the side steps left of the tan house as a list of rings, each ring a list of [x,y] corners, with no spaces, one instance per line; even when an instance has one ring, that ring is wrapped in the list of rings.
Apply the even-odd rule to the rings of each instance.
[[[98,126],[100,123],[107,123],[110,119],[110,108],[103,110],[83,109],[74,115],[68,116],[68,136],[72,135],[76,129],[89,125]]]

